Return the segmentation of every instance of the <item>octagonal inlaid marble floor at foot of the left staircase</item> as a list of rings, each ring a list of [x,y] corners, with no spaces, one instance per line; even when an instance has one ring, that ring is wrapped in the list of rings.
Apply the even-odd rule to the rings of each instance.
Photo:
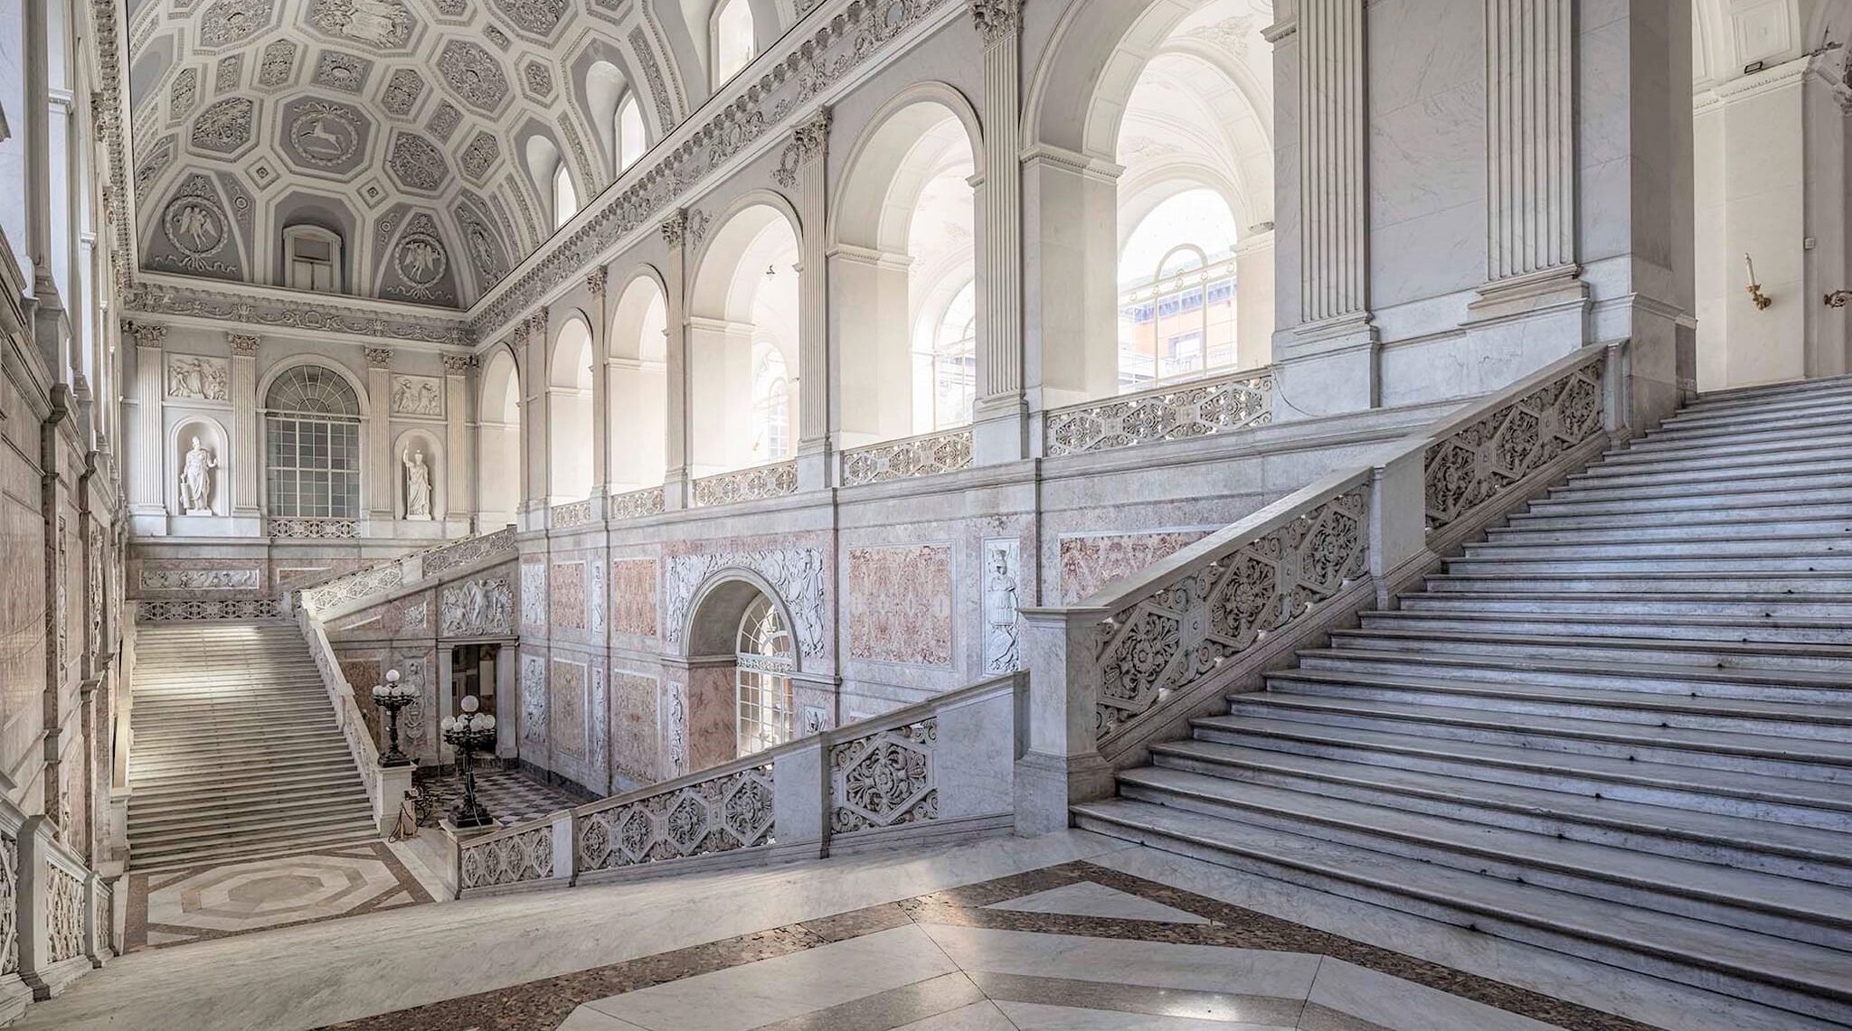
[[[432,901],[385,842],[128,877],[128,951]]]

